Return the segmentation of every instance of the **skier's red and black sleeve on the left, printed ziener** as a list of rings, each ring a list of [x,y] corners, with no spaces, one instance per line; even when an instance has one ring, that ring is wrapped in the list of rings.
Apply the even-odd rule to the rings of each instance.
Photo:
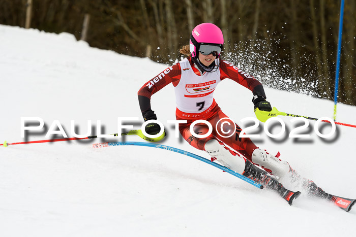
[[[179,63],[168,67],[162,73],[146,82],[138,91],[138,103],[145,121],[156,119],[155,112],[151,109],[151,96],[173,82],[177,83],[181,79],[181,66]]]

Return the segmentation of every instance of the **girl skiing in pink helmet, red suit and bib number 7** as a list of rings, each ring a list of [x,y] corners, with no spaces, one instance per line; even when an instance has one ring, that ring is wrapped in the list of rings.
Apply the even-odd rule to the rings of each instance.
[[[251,75],[220,58],[224,38],[218,26],[211,23],[197,25],[191,33],[189,43],[180,50],[188,56],[187,58],[168,67],[157,77],[145,83],[138,91],[139,105],[144,120],[153,120],[153,123],[145,127],[145,131],[149,134],[157,134],[160,131],[160,126],[154,123],[157,116],[151,109],[151,96],[172,83],[176,97],[176,119],[188,121],[179,126],[183,138],[191,146],[206,151],[213,157],[213,160],[263,184],[266,188],[277,191],[291,204],[293,198],[300,192],[294,193],[287,190],[269,174],[279,178],[287,177],[294,181],[299,176],[288,162],[259,149],[249,138],[240,138],[242,129],[238,124],[230,122],[231,120],[220,110],[213,97],[218,83],[229,78],[252,91],[255,109],[271,111],[272,107],[266,101],[262,84]],[[206,120],[213,127],[213,132],[205,138],[193,136],[189,129],[192,122],[201,119]],[[217,124],[219,126],[216,126]],[[222,128],[221,124],[223,124]],[[196,134],[206,134],[209,127],[205,123],[198,123],[193,130]],[[226,131],[235,131],[235,133],[226,138],[224,136]],[[224,144],[244,157],[228,149]],[[303,179],[303,184],[308,186],[309,193],[318,196],[326,195],[310,180]]]

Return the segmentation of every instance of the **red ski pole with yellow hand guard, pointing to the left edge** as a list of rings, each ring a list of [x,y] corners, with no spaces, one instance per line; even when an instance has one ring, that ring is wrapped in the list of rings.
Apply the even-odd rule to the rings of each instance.
[[[148,138],[144,136],[141,130],[131,130],[129,132],[123,132],[121,133],[121,136],[126,136],[126,135],[137,135],[143,140],[149,141],[149,142],[159,142],[164,138],[165,132],[162,133],[162,135],[158,138]],[[114,137],[118,136],[118,133],[113,133],[112,134]],[[18,143],[8,143],[5,141],[3,144],[0,144],[0,146],[7,147],[9,145],[17,145],[17,144],[31,144],[31,143],[51,143],[51,142],[62,142],[62,141],[73,141],[73,140],[84,140],[84,139],[93,139],[93,138],[98,138],[98,136],[88,136],[86,138],[60,138],[60,139],[49,139],[49,140],[39,140],[39,141],[30,141],[30,142],[18,142]]]

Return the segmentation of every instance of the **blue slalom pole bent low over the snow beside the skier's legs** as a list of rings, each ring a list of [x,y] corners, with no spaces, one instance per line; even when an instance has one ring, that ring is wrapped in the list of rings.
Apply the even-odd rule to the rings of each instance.
[[[101,147],[110,147],[110,146],[145,146],[145,147],[154,147],[154,148],[160,148],[160,149],[164,149],[164,150],[167,150],[167,151],[173,151],[173,152],[176,152],[176,153],[180,153],[180,154],[183,154],[183,155],[187,155],[187,156],[190,156],[190,157],[193,157],[197,160],[200,160],[200,161],[203,161],[207,164],[210,164],[210,165],[213,165],[217,168],[219,168],[220,170],[222,171],[225,171],[226,173],[229,173],[235,177],[238,177],[246,182],[248,182],[249,184],[252,184],[254,186],[256,186],[257,188],[259,189],[263,189],[263,185],[260,185],[254,181],[252,181],[251,179],[239,174],[239,173],[236,173],[232,170],[230,170],[229,168],[223,166],[223,165],[220,165],[218,163],[215,163],[215,162],[212,162],[210,161],[209,159],[206,159],[204,157],[201,157],[201,156],[198,156],[198,155],[195,155],[191,152],[188,152],[188,151],[184,151],[184,150],[181,150],[181,149],[178,149],[178,148],[174,148],[174,147],[169,147],[169,146],[164,146],[164,145],[160,145],[160,144],[155,144],[155,143],[145,143],[145,142],[106,142],[106,143],[95,143],[93,144],[93,148],[101,148]]]

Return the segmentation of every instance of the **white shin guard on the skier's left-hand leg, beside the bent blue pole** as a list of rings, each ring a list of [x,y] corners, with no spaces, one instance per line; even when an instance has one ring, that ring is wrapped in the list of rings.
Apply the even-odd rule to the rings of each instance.
[[[245,170],[245,158],[230,151],[222,143],[217,140],[209,140],[205,143],[204,150],[216,158],[216,160],[227,168],[230,168],[234,172],[242,174]]]

